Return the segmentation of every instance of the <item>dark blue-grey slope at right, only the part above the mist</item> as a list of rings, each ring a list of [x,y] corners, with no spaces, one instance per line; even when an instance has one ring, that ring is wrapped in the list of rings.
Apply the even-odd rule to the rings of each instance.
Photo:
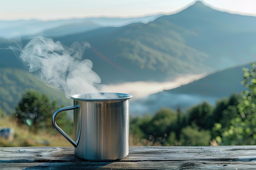
[[[250,64],[218,71],[195,82],[166,91],[172,94],[228,97],[233,92],[245,90],[241,85],[242,67],[251,68]]]

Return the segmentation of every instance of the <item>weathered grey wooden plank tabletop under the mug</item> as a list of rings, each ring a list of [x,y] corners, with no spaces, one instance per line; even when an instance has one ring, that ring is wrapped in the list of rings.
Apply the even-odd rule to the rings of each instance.
[[[0,148],[0,169],[256,169],[256,146],[130,147],[128,157],[90,162],[74,155],[73,147]]]

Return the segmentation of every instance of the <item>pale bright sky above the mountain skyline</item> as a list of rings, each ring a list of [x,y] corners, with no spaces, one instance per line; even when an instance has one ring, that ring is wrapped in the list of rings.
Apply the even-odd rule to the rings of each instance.
[[[220,11],[256,16],[256,0],[201,2]],[[193,3],[195,0],[1,0],[0,20],[168,15],[177,13]]]

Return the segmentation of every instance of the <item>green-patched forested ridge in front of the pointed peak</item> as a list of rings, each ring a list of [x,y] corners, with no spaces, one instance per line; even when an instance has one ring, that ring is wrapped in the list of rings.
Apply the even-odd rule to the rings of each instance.
[[[163,81],[177,73],[202,73],[211,70],[203,64],[208,55],[187,46],[177,31],[164,31],[170,26],[171,23],[168,22],[163,22],[161,26],[154,22],[135,23],[56,37],[54,41],[68,46],[75,41],[90,42],[92,48],[86,49],[84,56],[92,60],[93,70],[99,74],[103,84]],[[186,33],[187,30],[180,31],[183,32]],[[22,41],[24,44],[28,42],[25,38]],[[7,43],[4,45],[7,46]],[[24,68],[11,53],[11,50],[0,51],[0,66],[19,65],[18,68]]]

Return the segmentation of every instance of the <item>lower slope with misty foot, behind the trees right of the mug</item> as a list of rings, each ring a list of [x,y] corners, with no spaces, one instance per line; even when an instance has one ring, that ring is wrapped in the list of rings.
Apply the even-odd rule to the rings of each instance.
[[[242,67],[237,66],[218,71],[178,88],[155,93],[143,99],[131,100],[130,114],[154,114],[161,108],[169,107],[174,110],[177,107],[186,110],[203,101],[214,106],[217,100],[246,90],[245,86],[240,84],[243,80]],[[251,68],[251,65],[247,64],[244,67]]]

